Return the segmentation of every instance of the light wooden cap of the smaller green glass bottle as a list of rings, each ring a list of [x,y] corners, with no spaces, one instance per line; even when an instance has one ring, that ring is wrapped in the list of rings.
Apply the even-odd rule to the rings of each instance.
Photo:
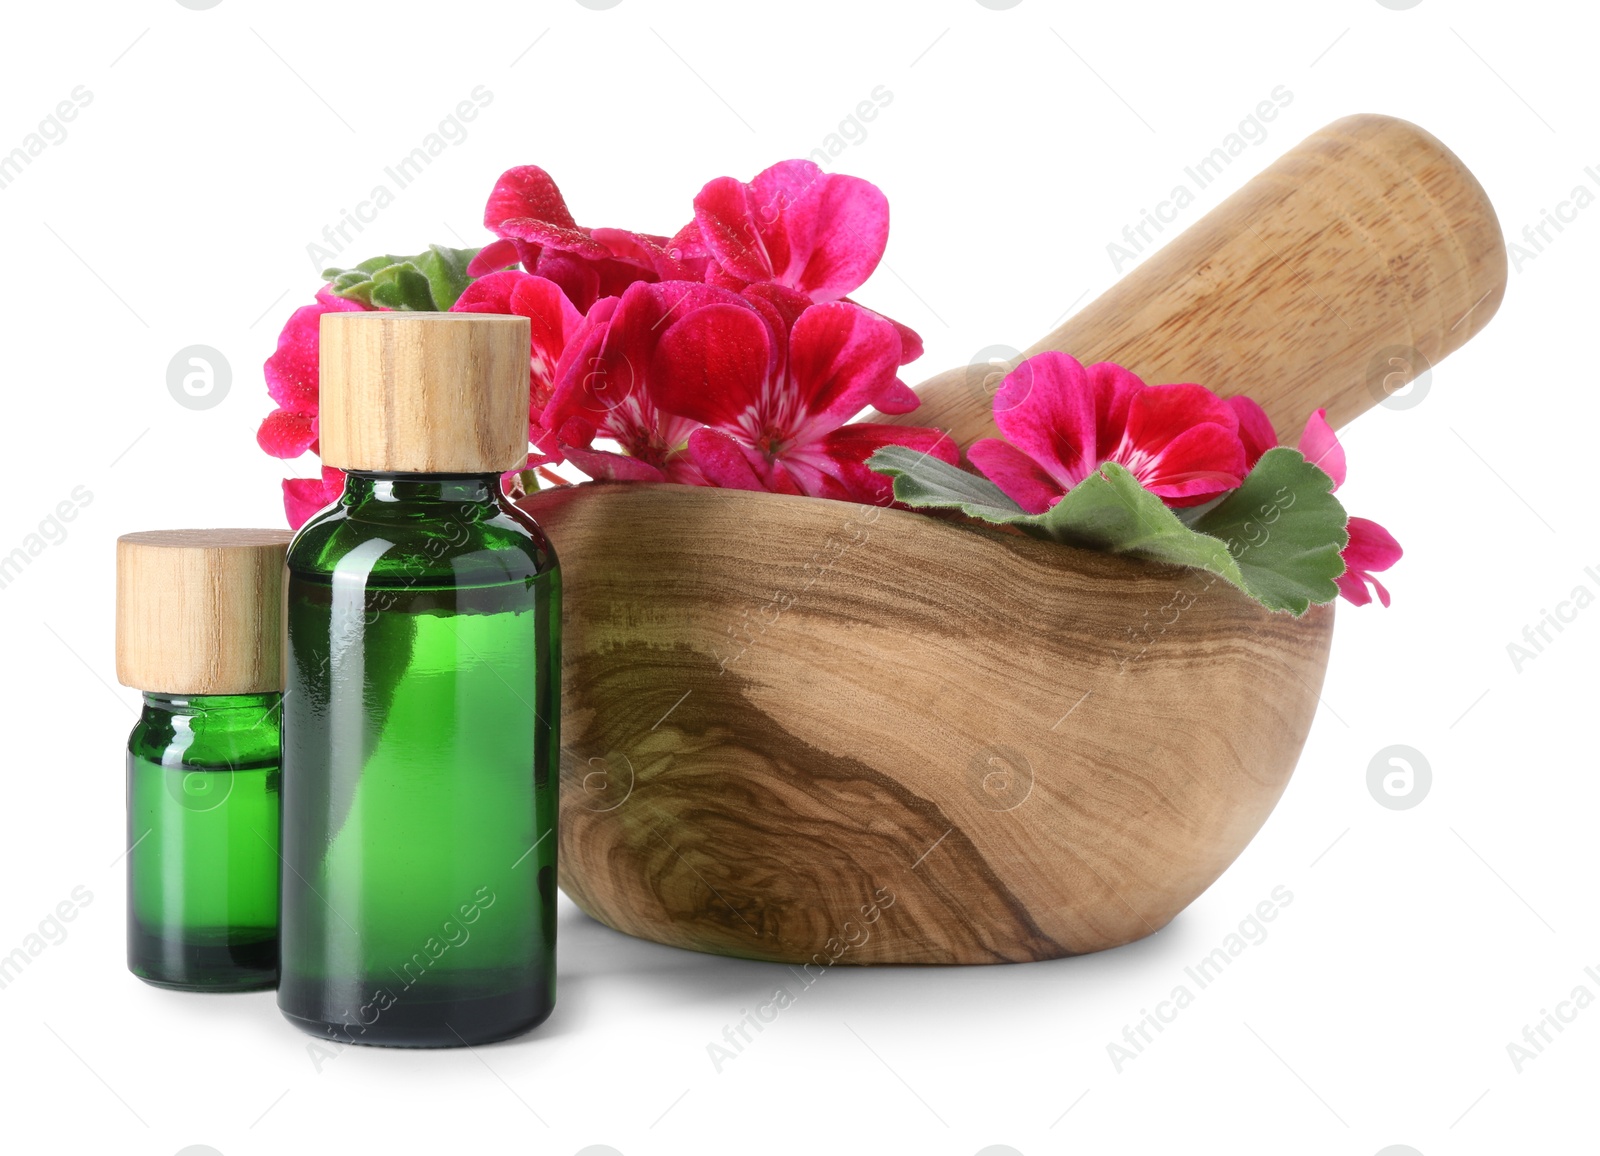
[[[117,680],[160,695],[283,690],[288,530],[117,540]]]

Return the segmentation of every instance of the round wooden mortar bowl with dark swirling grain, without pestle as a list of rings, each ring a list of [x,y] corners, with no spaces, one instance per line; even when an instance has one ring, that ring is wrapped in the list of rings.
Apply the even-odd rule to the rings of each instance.
[[[526,508],[565,572],[562,885],[701,951],[818,962],[880,889],[840,962],[1160,929],[1283,791],[1333,626],[906,511],[622,484]]]

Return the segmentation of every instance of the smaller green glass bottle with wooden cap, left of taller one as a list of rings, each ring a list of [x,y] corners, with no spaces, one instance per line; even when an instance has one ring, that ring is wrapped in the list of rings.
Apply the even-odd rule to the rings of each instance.
[[[128,737],[128,970],[182,991],[278,977],[283,530],[117,540]]]

